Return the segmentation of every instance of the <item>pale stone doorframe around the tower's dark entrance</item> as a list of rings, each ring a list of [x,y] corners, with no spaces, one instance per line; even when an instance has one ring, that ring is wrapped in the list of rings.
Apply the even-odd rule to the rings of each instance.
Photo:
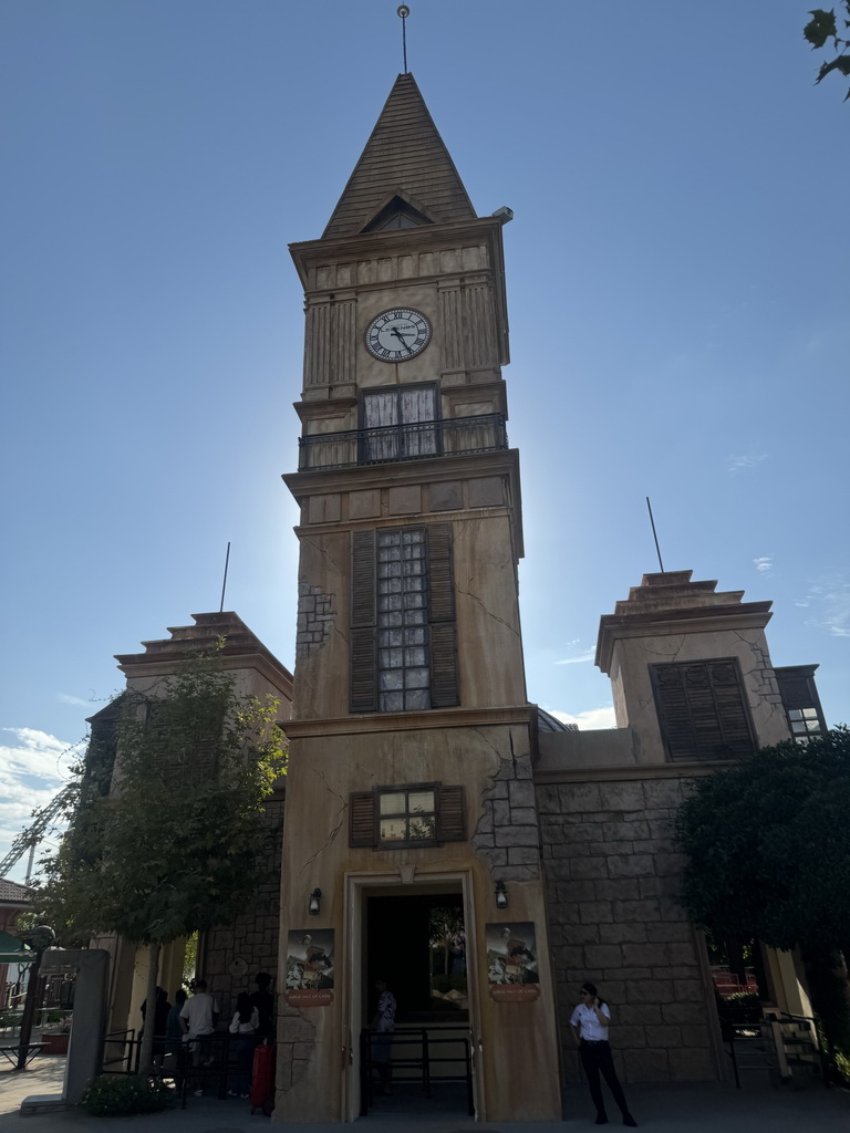
[[[481,1004],[478,998],[478,942],[475,928],[475,904],[473,876],[470,870],[418,871],[414,866],[402,866],[398,872],[346,874],[346,923],[345,957],[346,972],[342,980],[342,1020],[345,1028],[343,1047],[348,1057],[343,1065],[342,1121],[357,1121],[360,1113],[360,1049],[359,1034],[363,1019],[363,945],[366,921],[366,897],[408,896],[440,893],[445,886],[450,892],[460,892],[464,904],[466,929],[466,970],[469,999],[469,1031],[473,1056],[473,1097],[475,1119],[485,1114],[484,1083],[478,1073],[478,1050],[481,1048]]]

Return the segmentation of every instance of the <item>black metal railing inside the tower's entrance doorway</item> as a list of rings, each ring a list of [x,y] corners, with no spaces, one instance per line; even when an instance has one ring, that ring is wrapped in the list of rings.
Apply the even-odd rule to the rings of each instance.
[[[451,1031],[445,1037],[435,1037],[434,1031]],[[380,1046],[382,1055],[388,1053],[389,1062],[377,1063],[373,1058],[373,1045]],[[452,1049],[453,1048],[453,1049]],[[388,1076],[375,1074],[391,1067]],[[386,1071],[384,1071],[386,1074]],[[467,1113],[475,1115],[473,1098],[473,1059],[469,1037],[458,1034],[453,1026],[405,1028],[390,1034],[364,1029],[360,1031],[360,1116],[367,1116],[374,1101],[376,1085],[390,1082],[418,1082],[426,1098],[432,1097],[432,1087],[439,1082],[462,1083],[466,1088]]]

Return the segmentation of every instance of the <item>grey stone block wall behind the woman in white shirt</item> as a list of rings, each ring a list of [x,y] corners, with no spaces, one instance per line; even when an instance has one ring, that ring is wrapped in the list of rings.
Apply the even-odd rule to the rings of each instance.
[[[611,1004],[624,1081],[722,1076],[713,989],[678,900],[682,781],[588,773],[538,783],[536,794],[567,1081],[579,1080],[569,1020],[585,980]]]

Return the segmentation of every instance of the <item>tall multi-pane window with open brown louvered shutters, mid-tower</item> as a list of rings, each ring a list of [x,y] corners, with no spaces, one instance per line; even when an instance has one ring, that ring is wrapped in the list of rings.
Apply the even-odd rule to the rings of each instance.
[[[459,704],[451,528],[356,531],[351,712]]]

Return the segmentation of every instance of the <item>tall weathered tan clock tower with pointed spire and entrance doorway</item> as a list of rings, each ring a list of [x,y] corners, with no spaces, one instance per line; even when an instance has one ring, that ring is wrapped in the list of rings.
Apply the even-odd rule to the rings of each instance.
[[[284,476],[300,559],[278,1121],[354,1121],[427,1062],[434,1091],[468,1066],[479,1119],[561,1116],[504,220],[476,215],[403,74],[324,233],[291,247],[306,332]]]

